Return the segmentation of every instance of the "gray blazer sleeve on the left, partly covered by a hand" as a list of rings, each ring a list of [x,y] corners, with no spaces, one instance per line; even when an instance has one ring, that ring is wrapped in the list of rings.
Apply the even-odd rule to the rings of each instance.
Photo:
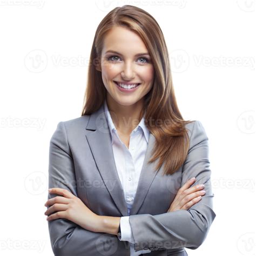
[[[49,188],[65,188],[77,197],[75,167],[68,144],[65,124],[58,123],[50,140]],[[48,199],[60,196],[48,194]],[[104,245],[116,242],[116,235],[85,230],[68,219],[48,221],[52,251],[55,256],[99,255]],[[116,254],[113,254],[116,255]]]

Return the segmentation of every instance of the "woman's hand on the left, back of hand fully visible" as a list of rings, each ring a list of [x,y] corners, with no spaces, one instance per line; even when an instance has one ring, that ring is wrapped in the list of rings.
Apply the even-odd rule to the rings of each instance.
[[[74,196],[70,191],[58,187],[53,187],[49,193],[60,194],[62,197],[57,196],[46,201],[45,206],[50,206],[44,213],[48,215],[46,220],[64,218],[86,230],[99,232],[100,216],[93,213],[80,198]]]

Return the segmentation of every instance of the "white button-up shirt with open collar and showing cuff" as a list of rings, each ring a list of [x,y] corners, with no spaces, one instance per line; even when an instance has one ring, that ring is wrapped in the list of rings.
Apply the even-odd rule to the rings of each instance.
[[[109,108],[104,102],[104,111],[109,124],[111,143],[114,154],[114,161],[116,163],[117,172],[121,184],[123,186],[125,201],[128,209],[128,216],[121,217],[120,228],[122,238],[120,241],[128,241],[130,245],[130,255],[139,255],[142,253],[150,253],[150,250],[140,250],[135,252],[134,239],[132,235],[131,225],[129,223],[130,211],[133,204],[133,199],[138,187],[140,172],[144,162],[147,144],[149,143],[149,129],[144,123],[144,116],[140,120],[138,126],[130,134],[129,149],[120,140],[116,127],[113,124],[110,116]]]

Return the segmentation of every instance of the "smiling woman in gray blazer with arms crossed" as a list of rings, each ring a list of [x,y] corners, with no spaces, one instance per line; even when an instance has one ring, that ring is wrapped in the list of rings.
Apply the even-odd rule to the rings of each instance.
[[[59,122],[50,142],[55,255],[181,256],[205,240],[208,138],[178,110],[168,56],[144,10],[124,5],[100,22],[82,116]]]

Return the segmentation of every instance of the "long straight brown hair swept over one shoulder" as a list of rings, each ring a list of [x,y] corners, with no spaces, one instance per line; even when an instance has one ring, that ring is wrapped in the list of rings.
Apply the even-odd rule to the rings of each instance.
[[[104,103],[106,89],[101,72],[96,69],[102,56],[104,36],[113,26],[123,26],[137,33],[149,50],[154,66],[152,89],[144,96],[145,125],[156,138],[152,163],[159,158],[157,170],[164,163],[164,174],[176,172],[184,163],[189,137],[174,95],[169,53],[157,21],[146,11],[132,5],[114,8],[98,25],[93,40],[82,116],[97,111]],[[142,117],[142,115],[141,115]],[[160,125],[159,120],[161,121]]]

